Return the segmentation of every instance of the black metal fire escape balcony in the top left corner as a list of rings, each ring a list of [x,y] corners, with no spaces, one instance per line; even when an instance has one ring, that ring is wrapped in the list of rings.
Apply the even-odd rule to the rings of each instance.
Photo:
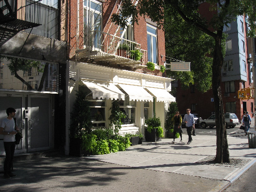
[[[21,31],[40,24],[41,0],[0,0],[0,27]]]

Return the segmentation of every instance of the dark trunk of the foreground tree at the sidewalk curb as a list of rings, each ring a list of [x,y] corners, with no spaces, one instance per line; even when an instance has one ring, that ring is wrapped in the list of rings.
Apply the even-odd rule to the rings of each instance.
[[[230,162],[229,151],[227,144],[227,135],[224,119],[224,106],[221,95],[221,68],[224,57],[222,54],[222,31],[217,32],[215,38],[215,48],[212,64],[212,91],[215,107],[215,121],[216,121],[216,157],[215,162],[224,163]]]

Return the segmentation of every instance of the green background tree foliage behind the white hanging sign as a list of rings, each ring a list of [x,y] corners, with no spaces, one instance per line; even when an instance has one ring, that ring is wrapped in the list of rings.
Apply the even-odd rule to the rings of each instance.
[[[211,88],[213,38],[194,27],[188,29],[187,23],[180,16],[168,14],[168,8],[165,9],[164,13],[167,63],[172,60],[167,56],[180,61],[191,62],[191,71],[167,70],[168,77],[179,80],[184,88],[195,84],[197,90],[208,91]]]

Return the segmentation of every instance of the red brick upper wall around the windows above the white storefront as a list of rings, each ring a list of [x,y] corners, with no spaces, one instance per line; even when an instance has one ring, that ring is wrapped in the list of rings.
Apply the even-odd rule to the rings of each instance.
[[[103,16],[102,16],[102,30],[103,32],[115,34],[117,26],[111,22],[111,15],[117,13],[120,0],[106,0],[102,4]],[[68,14],[68,45],[69,45],[69,58],[74,57],[77,47],[79,49],[83,48],[83,4],[80,1],[80,16],[78,20],[79,25],[79,45],[77,45],[77,0],[70,0],[69,4],[69,14]],[[117,32],[117,36],[119,33]],[[134,40],[135,42],[141,44],[141,48],[147,50],[147,34],[146,34],[146,22],[143,16],[139,16],[139,23],[134,25]],[[165,41],[164,32],[158,30],[158,64],[163,65],[165,57],[161,61],[161,55],[165,55]],[[147,58],[146,58],[147,59]],[[150,71],[147,68],[137,69],[137,72],[148,73],[152,75],[162,76],[159,70]]]

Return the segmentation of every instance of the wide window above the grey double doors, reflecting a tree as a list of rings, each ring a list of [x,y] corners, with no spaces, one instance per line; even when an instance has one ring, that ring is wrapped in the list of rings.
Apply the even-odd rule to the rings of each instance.
[[[0,89],[58,92],[58,64],[0,57]]]

